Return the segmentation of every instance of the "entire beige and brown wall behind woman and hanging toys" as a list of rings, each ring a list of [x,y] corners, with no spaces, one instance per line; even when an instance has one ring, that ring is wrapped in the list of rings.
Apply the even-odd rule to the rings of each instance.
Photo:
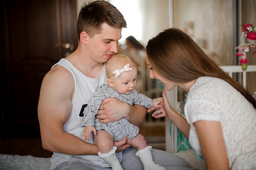
[[[256,0],[240,0],[239,24],[256,26]],[[233,65],[233,3],[234,0],[173,0],[173,26],[189,29],[193,23],[191,37],[204,48],[218,65]],[[240,30],[242,27],[240,27]],[[190,31],[188,30],[190,34]],[[239,37],[240,39],[240,37]],[[248,65],[256,64],[256,56],[247,53]],[[256,91],[256,74],[247,73],[247,88]]]

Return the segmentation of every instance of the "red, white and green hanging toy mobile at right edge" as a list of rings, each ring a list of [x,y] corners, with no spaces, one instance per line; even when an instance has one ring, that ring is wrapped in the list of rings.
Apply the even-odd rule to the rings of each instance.
[[[256,48],[256,27],[252,26],[252,24],[243,24],[242,34],[241,34],[241,42],[238,47],[235,49],[239,49],[236,56],[240,57],[240,65],[242,66],[243,70],[247,69],[247,58],[246,53],[249,51],[249,46],[251,48]],[[248,32],[247,34],[245,32]],[[245,43],[245,38],[249,43]],[[256,54],[256,51],[252,53],[252,55]]]

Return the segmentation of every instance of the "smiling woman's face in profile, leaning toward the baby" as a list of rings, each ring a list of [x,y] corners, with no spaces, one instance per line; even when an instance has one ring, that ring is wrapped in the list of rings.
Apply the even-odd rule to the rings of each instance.
[[[166,78],[164,78],[162,75],[160,75],[160,74],[153,68],[153,66],[151,65],[150,61],[148,60],[148,56],[146,57],[146,62],[147,62],[147,65],[148,65],[148,67],[149,67],[149,69],[150,69],[149,77],[150,77],[151,79],[156,78],[158,81],[160,81],[160,82],[162,83],[162,85],[163,85],[163,86],[165,87],[165,89],[168,90],[168,91],[177,86],[177,83],[167,80]]]

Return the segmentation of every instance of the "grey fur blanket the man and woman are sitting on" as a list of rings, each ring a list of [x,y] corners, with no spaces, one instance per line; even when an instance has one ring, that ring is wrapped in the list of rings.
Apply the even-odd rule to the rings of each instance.
[[[192,168],[206,170],[204,163],[199,161],[193,150],[175,153],[188,161]],[[0,170],[49,170],[50,158],[0,154]]]

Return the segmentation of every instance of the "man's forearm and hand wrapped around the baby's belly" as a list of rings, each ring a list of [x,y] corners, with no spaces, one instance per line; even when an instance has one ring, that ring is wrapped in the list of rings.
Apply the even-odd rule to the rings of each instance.
[[[129,105],[116,98],[105,98],[97,113],[97,119],[101,123],[127,119],[134,125],[140,126],[144,123],[146,108],[140,105]]]

